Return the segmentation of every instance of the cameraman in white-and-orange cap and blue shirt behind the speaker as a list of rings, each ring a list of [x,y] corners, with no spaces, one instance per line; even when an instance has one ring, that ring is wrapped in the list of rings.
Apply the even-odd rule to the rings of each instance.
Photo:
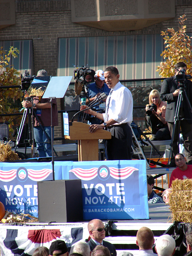
[[[107,84],[104,83],[104,71],[99,69],[95,73],[95,83],[92,83],[89,85],[87,96],[89,99],[86,99],[86,105],[88,105],[90,102],[93,102],[100,94],[105,93],[106,95],[109,95],[110,89],[108,88]],[[106,99],[103,99],[101,103],[94,107],[96,110],[98,110],[99,113],[104,113],[106,108]],[[101,124],[103,121],[100,119],[91,116],[88,120],[88,124]]]

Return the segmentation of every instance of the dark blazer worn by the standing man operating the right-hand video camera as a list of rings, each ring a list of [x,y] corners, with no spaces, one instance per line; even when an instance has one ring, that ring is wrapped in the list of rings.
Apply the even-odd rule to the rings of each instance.
[[[192,105],[192,82],[187,79],[185,87],[186,87],[185,92],[186,92],[187,98],[189,99],[189,102]],[[165,113],[165,120],[167,122],[174,122],[178,96],[173,97],[173,93],[177,89],[178,88],[177,88],[175,76],[163,80],[161,92],[160,92],[160,98],[163,101],[167,101],[167,107],[166,107],[166,113]],[[183,95],[184,104],[183,104],[182,115],[185,118],[192,118],[192,113],[190,111],[189,104],[186,104],[186,101],[187,99]],[[188,122],[192,123],[192,121],[188,121]]]

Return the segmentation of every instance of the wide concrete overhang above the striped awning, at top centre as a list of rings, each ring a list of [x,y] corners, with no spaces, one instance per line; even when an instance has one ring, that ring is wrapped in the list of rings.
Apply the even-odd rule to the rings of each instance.
[[[72,22],[106,31],[140,30],[175,17],[174,0],[71,0]]]

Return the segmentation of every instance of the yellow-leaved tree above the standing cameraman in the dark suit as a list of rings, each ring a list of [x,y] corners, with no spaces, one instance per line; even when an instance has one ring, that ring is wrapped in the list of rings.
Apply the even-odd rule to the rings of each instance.
[[[186,25],[184,25],[187,18],[183,14],[179,18],[181,25],[178,31],[167,29],[165,32],[161,31],[164,39],[165,50],[161,53],[164,61],[160,63],[158,69],[161,77],[174,76],[174,65],[180,61],[187,65],[187,73],[192,74],[192,47],[191,37],[186,34]]]

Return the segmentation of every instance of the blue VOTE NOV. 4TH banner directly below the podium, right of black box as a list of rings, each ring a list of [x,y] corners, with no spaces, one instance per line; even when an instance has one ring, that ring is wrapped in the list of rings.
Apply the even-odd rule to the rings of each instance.
[[[69,179],[82,180],[84,220],[149,219],[145,160],[73,162]]]

